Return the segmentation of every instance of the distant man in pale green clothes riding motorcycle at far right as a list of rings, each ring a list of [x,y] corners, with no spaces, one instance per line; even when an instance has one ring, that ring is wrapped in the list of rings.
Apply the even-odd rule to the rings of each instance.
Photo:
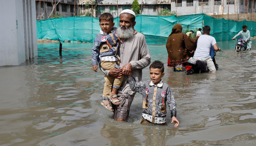
[[[236,39],[237,37],[240,36],[243,39],[243,41],[245,41],[246,44],[247,44],[246,50],[250,51],[251,47],[252,47],[252,41],[250,39],[251,38],[250,31],[247,30],[247,26],[246,25],[242,26],[242,28],[243,28],[243,30],[238,32],[238,34],[235,35],[234,38],[232,38],[232,40]]]

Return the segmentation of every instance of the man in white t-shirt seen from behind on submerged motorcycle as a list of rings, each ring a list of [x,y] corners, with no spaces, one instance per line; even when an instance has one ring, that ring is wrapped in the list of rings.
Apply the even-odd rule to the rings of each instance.
[[[211,46],[213,46],[215,51],[221,51],[221,48],[217,46],[215,38],[210,36],[210,31],[210,26],[203,27],[203,35],[201,35],[197,40],[197,47],[193,57],[203,59],[206,62],[209,72],[214,73],[216,72],[216,68],[210,56]]]

